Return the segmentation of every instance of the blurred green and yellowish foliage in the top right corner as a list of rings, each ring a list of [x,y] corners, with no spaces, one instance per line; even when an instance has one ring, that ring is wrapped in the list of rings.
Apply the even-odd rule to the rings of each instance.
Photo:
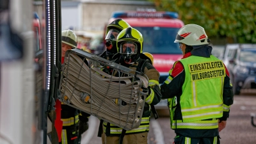
[[[255,0],[148,0],[159,11],[178,12],[184,24],[198,24],[207,35],[256,43]]]

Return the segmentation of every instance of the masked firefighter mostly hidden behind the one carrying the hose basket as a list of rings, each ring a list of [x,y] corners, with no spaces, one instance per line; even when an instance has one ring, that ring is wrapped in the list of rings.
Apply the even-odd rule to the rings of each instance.
[[[130,27],[130,25],[125,22],[123,19],[116,19],[113,20],[110,24],[108,24],[107,29],[106,29],[106,51],[102,52],[100,54],[100,57],[105,58],[107,60],[112,60],[112,57],[114,54],[117,53],[116,50],[116,37],[125,28]]]

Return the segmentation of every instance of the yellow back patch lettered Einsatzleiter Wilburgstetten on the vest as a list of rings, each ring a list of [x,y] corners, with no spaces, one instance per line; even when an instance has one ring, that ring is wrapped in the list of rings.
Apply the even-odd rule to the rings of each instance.
[[[208,61],[188,65],[191,81],[200,81],[216,77],[225,77],[225,67],[222,61]]]

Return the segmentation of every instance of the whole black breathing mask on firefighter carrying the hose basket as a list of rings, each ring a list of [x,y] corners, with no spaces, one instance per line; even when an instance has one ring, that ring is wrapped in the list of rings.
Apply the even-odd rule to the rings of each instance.
[[[124,56],[125,63],[131,63],[133,57],[137,54],[138,47],[137,44],[134,42],[122,42],[120,44],[120,54]]]

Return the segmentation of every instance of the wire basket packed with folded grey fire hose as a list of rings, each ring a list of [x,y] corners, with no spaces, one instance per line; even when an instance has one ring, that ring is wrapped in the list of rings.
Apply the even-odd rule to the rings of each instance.
[[[131,130],[141,122],[147,95],[141,86],[147,88],[148,79],[140,72],[73,49],[66,52],[59,99],[68,106]]]

